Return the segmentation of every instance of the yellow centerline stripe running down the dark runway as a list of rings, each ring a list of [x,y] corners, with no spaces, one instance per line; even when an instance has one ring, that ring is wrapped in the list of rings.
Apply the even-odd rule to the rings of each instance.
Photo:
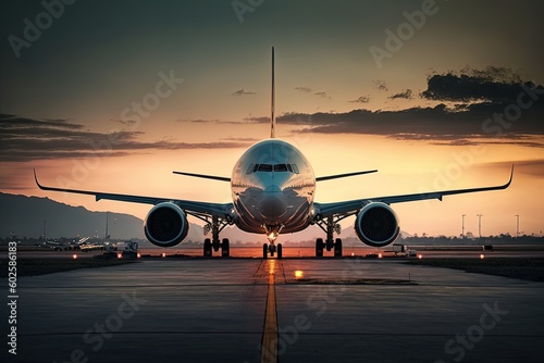
[[[270,274],[262,331],[261,363],[277,363],[277,310],[275,305],[275,275]]]

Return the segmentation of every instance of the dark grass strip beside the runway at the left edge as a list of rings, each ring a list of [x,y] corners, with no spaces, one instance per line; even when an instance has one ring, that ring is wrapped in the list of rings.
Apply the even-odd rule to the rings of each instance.
[[[0,277],[8,277],[8,259],[0,260]],[[116,266],[134,262],[136,261],[123,259],[20,259],[17,260],[17,276],[37,276],[78,268]]]

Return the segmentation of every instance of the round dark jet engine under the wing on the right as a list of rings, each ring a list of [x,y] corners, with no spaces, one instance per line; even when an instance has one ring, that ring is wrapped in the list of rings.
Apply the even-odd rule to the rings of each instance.
[[[372,202],[357,214],[355,231],[364,243],[385,247],[397,238],[400,227],[397,215],[390,205]]]

